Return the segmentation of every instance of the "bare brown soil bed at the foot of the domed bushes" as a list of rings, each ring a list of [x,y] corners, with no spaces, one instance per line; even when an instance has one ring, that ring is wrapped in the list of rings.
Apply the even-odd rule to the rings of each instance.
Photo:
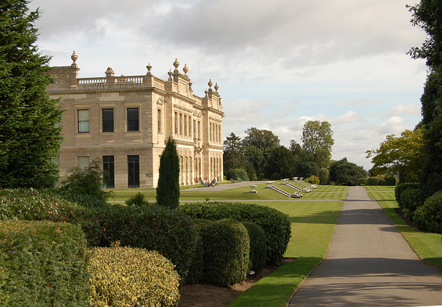
[[[284,258],[282,265],[293,261],[295,258]],[[231,287],[220,286],[212,283],[198,283],[185,285],[181,293],[180,307],[224,307],[229,306],[230,302],[253,286],[262,277],[270,275],[278,267],[265,266],[259,274],[249,275],[246,280]]]

